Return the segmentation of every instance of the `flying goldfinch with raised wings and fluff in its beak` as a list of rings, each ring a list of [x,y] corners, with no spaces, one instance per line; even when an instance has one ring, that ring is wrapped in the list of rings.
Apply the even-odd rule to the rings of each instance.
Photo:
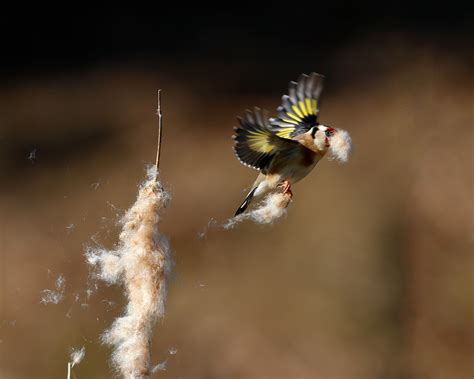
[[[265,111],[255,108],[238,119],[234,152],[242,164],[260,174],[236,216],[247,209],[254,197],[277,187],[292,196],[291,185],[308,175],[328,150],[335,158],[347,161],[349,134],[318,122],[323,80],[322,75],[312,73],[290,82],[288,95],[283,95],[275,118],[268,118]]]

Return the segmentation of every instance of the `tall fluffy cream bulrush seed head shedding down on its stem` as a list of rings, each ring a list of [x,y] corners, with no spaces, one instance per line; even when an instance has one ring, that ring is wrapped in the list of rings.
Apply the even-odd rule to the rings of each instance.
[[[114,347],[112,362],[124,378],[148,378],[151,374],[153,326],[165,313],[166,283],[173,265],[168,241],[158,232],[159,212],[168,201],[153,166],[135,204],[121,220],[118,247],[86,252],[100,279],[125,287],[125,314],[102,336],[103,342]]]

